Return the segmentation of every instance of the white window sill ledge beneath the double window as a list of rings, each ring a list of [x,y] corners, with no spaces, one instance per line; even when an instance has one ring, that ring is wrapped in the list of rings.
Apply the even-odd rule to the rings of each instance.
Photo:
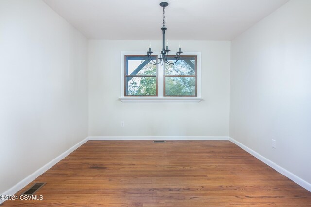
[[[199,103],[198,97],[121,97],[123,103]]]

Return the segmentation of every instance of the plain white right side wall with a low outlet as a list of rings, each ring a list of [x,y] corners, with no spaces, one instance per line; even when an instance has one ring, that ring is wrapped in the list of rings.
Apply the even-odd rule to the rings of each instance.
[[[309,183],[310,11],[291,0],[233,40],[230,79],[230,137]]]

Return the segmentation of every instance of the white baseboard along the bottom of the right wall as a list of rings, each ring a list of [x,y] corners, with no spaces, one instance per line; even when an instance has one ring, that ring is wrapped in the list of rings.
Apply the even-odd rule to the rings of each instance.
[[[236,145],[238,145],[239,147],[241,147],[243,150],[245,150],[246,152],[248,152],[249,154],[253,155],[255,158],[259,159],[260,161],[264,162],[265,164],[269,165],[270,167],[272,167],[273,169],[275,169],[277,172],[279,172],[280,174],[288,177],[289,179],[293,180],[295,183],[297,183],[298,185],[300,185],[301,187],[305,188],[306,190],[311,192],[311,184],[308,183],[307,181],[301,179],[300,177],[298,177],[297,175],[294,175],[293,173],[289,172],[288,170],[282,168],[281,166],[277,165],[276,163],[274,163],[273,161],[271,161],[270,159],[267,159],[265,157],[263,157],[262,155],[260,155],[259,153],[255,152],[254,150],[248,148],[247,146],[245,146],[242,143],[239,143],[238,141],[236,141],[235,139],[229,137],[229,141],[231,141],[232,143],[235,143]]]

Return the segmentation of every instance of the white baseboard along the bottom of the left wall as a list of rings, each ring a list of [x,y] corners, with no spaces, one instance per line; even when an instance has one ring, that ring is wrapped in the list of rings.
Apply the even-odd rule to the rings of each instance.
[[[15,186],[10,188],[9,190],[3,192],[1,195],[14,195],[18,191],[20,191],[22,188],[27,186],[29,183],[31,183],[35,178],[42,175],[45,171],[49,170],[52,166],[54,166],[57,162],[64,159],[66,156],[68,156],[71,152],[76,150],[78,147],[80,147],[82,144],[86,143],[88,141],[88,137],[86,137],[81,142],[75,144],[71,148],[69,148],[67,151],[53,159],[52,161],[45,164],[43,167],[39,168],[37,171],[35,171],[33,174],[29,175],[25,179],[21,180],[19,183],[17,183]],[[3,203],[5,200],[0,199],[0,204]]]

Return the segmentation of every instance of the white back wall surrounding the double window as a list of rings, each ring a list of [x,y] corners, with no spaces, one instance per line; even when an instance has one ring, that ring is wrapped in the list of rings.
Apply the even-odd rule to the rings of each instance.
[[[89,41],[89,136],[228,136],[230,42],[181,43],[184,51],[202,52],[200,103],[122,103],[120,52],[144,51],[149,41]],[[151,44],[155,51],[162,46]]]

